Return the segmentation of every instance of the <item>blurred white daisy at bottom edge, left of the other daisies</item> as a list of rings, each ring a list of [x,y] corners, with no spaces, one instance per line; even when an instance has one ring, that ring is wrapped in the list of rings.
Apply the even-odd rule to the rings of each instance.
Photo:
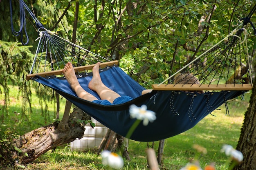
[[[104,166],[108,165],[115,169],[120,169],[120,168],[123,168],[124,166],[124,160],[114,152],[103,150],[101,152],[101,157],[102,157],[102,164]]]

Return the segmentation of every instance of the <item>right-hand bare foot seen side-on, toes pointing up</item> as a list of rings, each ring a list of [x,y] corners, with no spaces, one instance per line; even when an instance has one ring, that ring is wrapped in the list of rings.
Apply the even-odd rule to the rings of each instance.
[[[99,65],[101,63],[98,62],[93,68],[92,68],[92,80],[89,82],[88,87],[93,90],[96,91],[97,88],[101,85],[103,85],[102,81],[101,81],[101,76],[99,75]]]

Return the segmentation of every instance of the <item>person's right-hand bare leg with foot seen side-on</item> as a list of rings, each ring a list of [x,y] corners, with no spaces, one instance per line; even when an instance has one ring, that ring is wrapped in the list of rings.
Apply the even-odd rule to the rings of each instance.
[[[96,91],[101,98],[101,100],[108,100],[110,103],[113,103],[113,101],[117,98],[120,97],[118,93],[115,91],[112,91],[110,88],[105,86],[103,82],[101,81],[101,77],[99,75],[99,65],[101,63],[98,62],[93,68],[92,68],[92,80],[88,84],[88,87]]]

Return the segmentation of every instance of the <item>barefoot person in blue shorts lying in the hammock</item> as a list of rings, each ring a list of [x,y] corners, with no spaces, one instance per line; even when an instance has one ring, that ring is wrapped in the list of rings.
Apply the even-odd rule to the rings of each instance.
[[[88,87],[92,91],[95,91],[99,95],[101,100],[97,99],[94,95],[88,93],[81,87],[71,62],[68,62],[67,64],[65,64],[62,72],[65,78],[67,79],[67,82],[70,84],[72,90],[76,93],[78,97],[82,99],[88,100],[90,102],[102,104],[102,105],[123,104],[125,102],[132,100],[132,97],[129,97],[129,96],[121,97],[118,93],[116,93],[115,91],[112,91],[105,84],[103,84],[99,74],[99,65],[100,65],[100,62],[98,62],[92,68],[92,80],[89,82]],[[184,75],[184,76],[182,75],[179,77],[180,79],[176,80],[176,83],[178,84],[200,84],[198,79],[191,74]],[[152,89],[146,89],[142,91],[141,95],[150,93],[151,91]]]

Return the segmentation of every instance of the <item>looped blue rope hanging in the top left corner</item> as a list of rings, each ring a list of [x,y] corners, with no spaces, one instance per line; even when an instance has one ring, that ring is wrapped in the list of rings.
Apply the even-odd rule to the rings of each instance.
[[[41,24],[38,19],[36,18],[36,16],[34,15],[34,13],[32,13],[32,11],[29,9],[29,7],[27,6],[27,4],[25,4],[25,2],[23,0],[20,0],[20,29],[19,31],[15,31],[13,28],[13,11],[12,11],[12,4],[11,4],[11,0],[9,0],[10,2],[10,14],[11,14],[11,32],[14,36],[21,36],[21,43],[23,45],[27,45],[29,42],[29,37],[27,35],[27,29],[26,29],[26,15],[25,15],[25,9],[27,9],[27,11],[29,12],[29,14],[31,15],[31,17],[33,18],[33,20],[36,23],[36,26],[38,29],[43,29],[43,24]],[[25,37],[27,39],[27,42],[23,42],[23,32],[25,33]]]

